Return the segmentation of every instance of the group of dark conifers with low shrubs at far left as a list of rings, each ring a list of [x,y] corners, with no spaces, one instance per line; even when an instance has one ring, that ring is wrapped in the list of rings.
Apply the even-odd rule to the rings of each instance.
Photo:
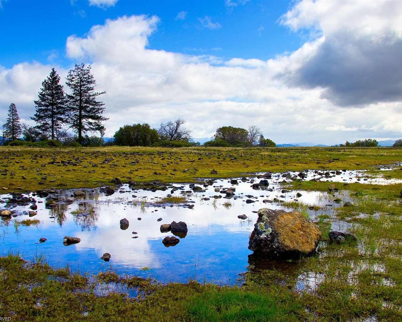
[[[3,125],[3,144],[16,142],[21,135],[26,142],[51,140],[56,145],[59,145],[56,141],[82,144],[89,138],[87,132],[99,132],[103,136],[105,126],[102,122],[108,118],[102,116],[105,108],[101,101],[97,101],[97,96],[106,92],[94,91],[96,82],[90,70],[90,65],[75,64],[66,77],[66,85],[71,91],[71,94],[66,94],[60,85],[60,76],[52,68],[42,82],[39,99],[34,101],[36,113],[31,119],[37,125],[21,124],[16,105],[11,103]],[[72,138],[64,127],[72,129],[76,137]],[[16,144],[22,145],[23,142]]]

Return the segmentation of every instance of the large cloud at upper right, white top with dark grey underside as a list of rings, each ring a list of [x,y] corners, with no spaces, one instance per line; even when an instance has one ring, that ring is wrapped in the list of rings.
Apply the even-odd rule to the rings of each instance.
[[[292,74],[293,86],[321,87],[321,97],[353,106],[399,101],[402,94],[402,2],[297,3],[281,23],[320,39]]]

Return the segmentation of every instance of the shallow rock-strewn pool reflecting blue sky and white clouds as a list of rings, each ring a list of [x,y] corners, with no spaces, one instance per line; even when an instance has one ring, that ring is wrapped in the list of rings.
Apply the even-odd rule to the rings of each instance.
[[[298,172],[290,173],[293,176]],[[317,177],[313,171],[307,173],[306,180]],[[323,180],[335,179],[342,182],[344,178],[351,177],[353,179],[346,179],[346,182],[355,182],[356,175],[361,177],[361,173],[347,171],[342,175]],[[248,177],[248,179],[258,183],[263,178]],[[74,190],[60,190],[57,195],[59,204],[57,208],[51,210],[45,209],[45,198],[35,196],[38,201],[38,214],[33,218],[39,219],[41,223],[37,227],[19,225],[16,229],[14,218],[8,221],[8,225],[7,221],[2,220],[0,254],[18,251],[27,259],[33,258],[35,254],[43,254],[51,265],[64,266],[68,263],[73,270],[79,269],[90,273],[112,266],[119,274],[140,276],[151,274],[161,282],[185,282],[188,279],[197,279],[215,283],[234,283],[238,274],[246,271],[248,266],[248,255],[251,253],[248,250],[248,235],[257,219],[257,214],[253,211],[256,212],[263,207],[282,208],[280,203],[265,203],[263,200],[297,199],[305,204],[323,206],[324,209],[318,212],[310,211],[313,219],[318,214],[330,214],[332,208],[340,206],[332,202],[335,198],[341,198],[343,202],[349,200],[343,192],[328,194],[301,191],[302,196],[297,198],[296,190],[282,192],[279,182],[283,180],[282,174],[273,174],[273,178],[268,180],[267,188],[253,190],[250,181],[241,182],[238,178],[239,184],[232,186],[230,180],[219,179],[213,186],[205,188],[205,192],[185,194],[188,204],[194,204],[193,209],[176,205],[173,207],[165,205],[166,208],[162,208],[156,204],[158,198],[170,193],[170,188],[165,192],[151,192],[130,191],[128,186],[122,186],[126,192],[115,192],[112,196],[105,196],[99,189],[93,189],[86,190],[86,196],[76,199],[71,196]],[[174,184],[174,186],[180,187],[174,192],[176,196],[181,195],[183,191],[191,190],[188,184]],[[214,204],[214,195],[225,196],[215,192],[215,187],[236,188],[234,198],[216,199]],[[7,200],[9,195],[2,197],[3,200]],[[205,197],[210,200],[201,199]],[[141,198],[147,201],[145,211],[139,202]],[[68,199],[75,201],[72,204],[62,204]],[[247,199],[255,202],[247,204]],[[225,206],[225,202],[230,204]],[[90,205],[94,208],[94,215],[89,213]],[[73,215],[72,211],[78,209],[84,209],[84,214]],[[18,221],[29,218],[27,215],[29,206],[16,206],[12,210],[17,211]],[[242,214],[249,219],[246,221],[238,219],[237,216]],[[130,223],[126,230],[120,229],[119,221],[123,218],[127,218]],[[162,218],[162,221],[158,222],[158,218]],[[161,233],[159,228],[161,224],[172,221],[184,221],[189,231],[185,238],[180,238],[176,246],[167,248],[162,244],[162,239],[165,236],[172,236],[172,233]],[[339,230],[347,228],[345,223],[340,223],[339,227],[334,225],[333,228]],[[137,234],[133,234],[133,231]],[[62,240],[65,235],[79,237],[81,242],[64,246]],[[40,237],[47,238],[47,241],[39,244]],[[112,256],[109,263],[99,259],[105,252]],[[140,269],[145,266],[151,270],[141,271]]]

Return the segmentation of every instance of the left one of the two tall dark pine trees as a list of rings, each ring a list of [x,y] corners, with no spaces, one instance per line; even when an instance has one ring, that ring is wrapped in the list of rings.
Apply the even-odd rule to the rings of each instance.
[[[66,114],[66,97],[59,82],[60,76],[52,68],[49,77],[42,82],[39,100],[34,101],[36,114],[31,118],[38,123],[35,128],[51,136],[52,140],[57,137],[57,130],[62,128]]]

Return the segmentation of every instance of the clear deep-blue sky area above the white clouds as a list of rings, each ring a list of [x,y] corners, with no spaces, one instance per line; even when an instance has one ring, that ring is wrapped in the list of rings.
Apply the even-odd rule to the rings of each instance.
[[[7,45],[0,47],[0,57],[7,68],[32,60],[67,68],[74,62],[66,59],[68,36],[83,36],[93,25],[123,15],[158,16],[148,48],[168,52],[267,60],[302,44],[299,35],[278,23],[289,1],[119,0],[99,8],[85,0],[8,0],[2,6],[1,41]]]

